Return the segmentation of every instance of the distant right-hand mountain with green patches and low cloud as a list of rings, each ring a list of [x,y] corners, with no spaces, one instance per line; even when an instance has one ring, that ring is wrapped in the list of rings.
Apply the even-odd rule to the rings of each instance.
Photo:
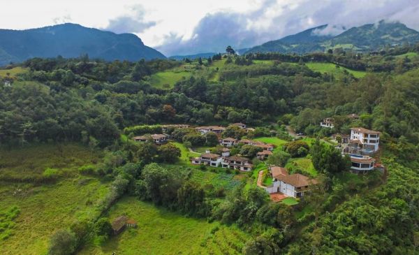
[[[378,22],[353,27],[337,36],[321,33],[328,25],[307,29],[251,48],[250,52],[283,52],[304,54],[324,52],[328,48],[350,48],[358,51],[376,50],[385,45],[419,42],[419,32],[399,22]]]

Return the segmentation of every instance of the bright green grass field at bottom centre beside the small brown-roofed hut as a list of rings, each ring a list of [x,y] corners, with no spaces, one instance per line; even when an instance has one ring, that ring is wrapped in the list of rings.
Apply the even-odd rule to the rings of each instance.
[[[183,217],[137,198],[122,198],[110,219],[126,214],[138,222],[105,245],[90,244],[80,254],[241,254],[250,236],[235,226]]]

